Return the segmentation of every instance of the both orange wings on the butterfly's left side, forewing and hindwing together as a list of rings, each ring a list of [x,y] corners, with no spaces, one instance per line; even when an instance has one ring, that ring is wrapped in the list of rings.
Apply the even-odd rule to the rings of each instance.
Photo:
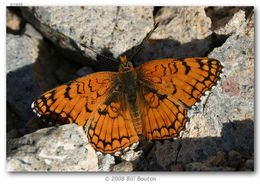
[[[38,116],[53,123],[77,123],[88,129],[92,146],[113,153],[138,142],[122,96],[114,93],[118,73],[98,72],[41,95],[32,104]],[[125,108],[125,107],[124,107]]]

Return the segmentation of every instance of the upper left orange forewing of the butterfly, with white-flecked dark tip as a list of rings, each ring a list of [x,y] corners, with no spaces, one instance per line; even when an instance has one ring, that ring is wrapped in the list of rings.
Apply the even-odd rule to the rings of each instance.
[[[98,72],[61,85],[41,95],[32,108],[47,121],[86,127],[93,111],[109,95],[116,74]]]

